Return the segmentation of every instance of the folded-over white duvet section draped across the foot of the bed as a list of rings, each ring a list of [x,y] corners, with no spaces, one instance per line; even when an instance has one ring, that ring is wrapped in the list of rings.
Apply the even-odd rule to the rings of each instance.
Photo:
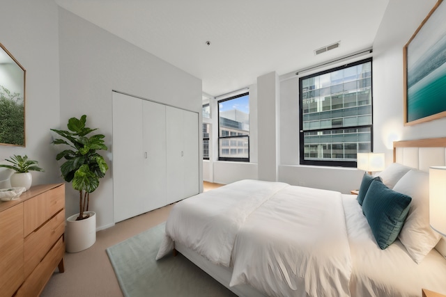
[[[178,202],[169,214],[157,259],[179,241],[213,264],[229,267],[238,229],[247,216],[286,186],[244,180]]]

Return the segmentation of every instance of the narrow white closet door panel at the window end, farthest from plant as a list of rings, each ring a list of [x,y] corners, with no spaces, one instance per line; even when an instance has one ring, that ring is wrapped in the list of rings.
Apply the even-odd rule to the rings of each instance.
[[[198,113],[183,113],[184,197],[199,193],[199,122]],[[203,133],[201,131],[201,133]]]

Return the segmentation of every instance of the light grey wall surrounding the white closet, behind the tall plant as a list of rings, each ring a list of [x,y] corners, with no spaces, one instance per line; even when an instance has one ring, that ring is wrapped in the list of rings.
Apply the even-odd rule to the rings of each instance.
[[[201,115],[201,80],[63,8],[59,9],[59,24],[60,125],[66,127],[69,118],[86,114],[87,125],[98,127],[98,133],[105,135],[109,147],[103,155],[110,170],[101,179],[98,190],[91,194],[91,210],[98,214],[98,229],[102,229],[114,224],[112,90],[178,106]],[[201,131],[201,116],[199,118]],[[201,150],[199,159],[203,159]],[[202,167],[200,161],[199,180],[203,178]],[[78,194],[70,186],[67,188],[68,216],[78,212]]]

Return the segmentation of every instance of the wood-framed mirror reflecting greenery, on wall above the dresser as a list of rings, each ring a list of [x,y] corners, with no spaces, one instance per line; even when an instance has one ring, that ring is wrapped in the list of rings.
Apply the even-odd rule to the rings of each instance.
[[[26,70],[0,43],[0,145],[25,146]]]

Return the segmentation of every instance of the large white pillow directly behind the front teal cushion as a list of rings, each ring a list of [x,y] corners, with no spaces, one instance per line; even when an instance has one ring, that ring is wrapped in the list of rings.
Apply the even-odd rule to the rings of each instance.
[[[429,173],[410,170],[399,179],[394,191],[412,198],[406,223],[398,237],[410,257],[420,264],[441,237],[429,225]]]

